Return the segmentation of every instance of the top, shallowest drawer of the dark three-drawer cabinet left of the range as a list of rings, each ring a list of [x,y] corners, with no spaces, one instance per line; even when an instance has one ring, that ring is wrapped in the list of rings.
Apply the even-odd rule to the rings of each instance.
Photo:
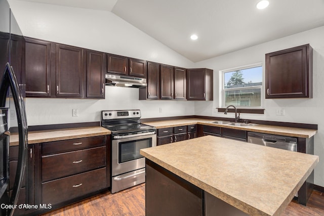
[[[106,136],[62,140],[42,144],[42,154],[55,154],[106,144]]]

